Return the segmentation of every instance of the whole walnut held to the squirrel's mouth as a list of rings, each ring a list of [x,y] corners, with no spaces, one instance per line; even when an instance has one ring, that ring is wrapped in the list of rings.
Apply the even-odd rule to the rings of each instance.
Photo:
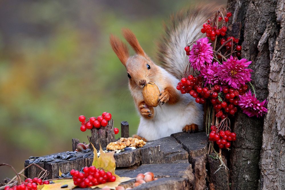
[[[144,87],[143,87],[143,100],[146,105],[149,107],[156,107],[158,106],[158,98],[160,91],[156,84],[154,82],[148,82]]]

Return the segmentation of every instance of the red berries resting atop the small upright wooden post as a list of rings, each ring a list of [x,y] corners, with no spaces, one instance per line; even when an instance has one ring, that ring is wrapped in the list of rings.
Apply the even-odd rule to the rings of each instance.
[[[86,118],[84,115],[80,115],[78,119],[81,122],[80,130],[84,132],[87,129],[92,129],[93,127],[98,129],[101,126],[106,127],[108,125],[108,121],[112,119],[112,115],[111,113],[103,112],[102,115],[98,117]]]

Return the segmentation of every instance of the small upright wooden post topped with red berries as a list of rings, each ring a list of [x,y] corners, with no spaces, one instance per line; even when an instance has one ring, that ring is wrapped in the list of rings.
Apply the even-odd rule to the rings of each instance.
[[[91,129],[91,143],[94,147],[99,150],[100,144],[101,147],[106,147],[107,144],[115,141],[115,133],[114,133],[114,121],[111,119],[108,122],[106,127],[101,127],[99,129],[93,127]],[[92,148],[92,146],[90,146]]]

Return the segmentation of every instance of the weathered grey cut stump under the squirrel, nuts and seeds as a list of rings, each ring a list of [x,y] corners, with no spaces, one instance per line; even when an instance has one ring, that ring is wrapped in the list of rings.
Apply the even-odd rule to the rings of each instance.
[[[171,137],[147,142],[142,148],[116,153],[114,155],[116,174],[136,177],[139,173],[153,172],[155,177],[159,178],[133,189],[204,189],[206,139],[205,133],[176,133]],[[38,165],[49,171],[48,179],[57,178],[59,170],[66,173],[72,169],[80,170],[84,166],[91,166],[92,153],[92,151],[77,152],[76,160],[56,162],[58,159],[55,158],[50,162],[40,162]],[[88,156],[83,158],[86,155]],[[25,166],[27,165],[26,163]],[[37,177],[39,173],[40,170],[35,166],[25,171],[25,175],[30,178]],[[121,185],[126,188],[131,187],[133,183],[135,180]]]

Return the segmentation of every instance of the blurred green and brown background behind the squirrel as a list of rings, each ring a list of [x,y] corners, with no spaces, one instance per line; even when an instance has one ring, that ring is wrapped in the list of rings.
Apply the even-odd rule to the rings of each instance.
[[[0,163],[20,171],[29,156],[70,150],[72,138],[88,141],[79,115],[110,112],[115,127],[128,121],[135,134],[139,117],[109,35],[122,38],[121,28],[130,28],[156,61],[163,21],[198,2],[0,1]],[[0,168],[0,180],[14,175]]]

